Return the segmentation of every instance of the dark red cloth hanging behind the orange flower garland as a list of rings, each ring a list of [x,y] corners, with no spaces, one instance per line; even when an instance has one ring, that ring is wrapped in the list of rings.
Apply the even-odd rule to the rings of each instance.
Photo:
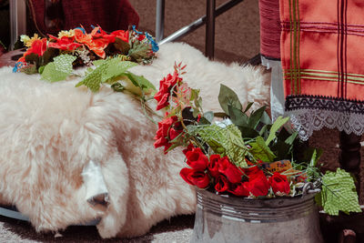
[[[91,25],[114,31],[126,30],[129,25],[137,27],[139,23],[139,15],[128,0],[29,0],[29,7],[37,29],[44,35],[72,29],[80,24],[89,32]],[[52,18],[54,15],[62,18],[62,24],[57,29],[45,23],[46,17]]]

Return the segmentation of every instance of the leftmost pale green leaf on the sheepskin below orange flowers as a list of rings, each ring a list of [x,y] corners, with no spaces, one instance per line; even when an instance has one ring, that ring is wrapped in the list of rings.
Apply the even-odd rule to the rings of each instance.
[[[76,56],[61,55],[56,56],[54,61],[48,63],[43,72],[42,78],[49,82],[57,82],[65,80],[72,73],[72,63],[76,60]]]

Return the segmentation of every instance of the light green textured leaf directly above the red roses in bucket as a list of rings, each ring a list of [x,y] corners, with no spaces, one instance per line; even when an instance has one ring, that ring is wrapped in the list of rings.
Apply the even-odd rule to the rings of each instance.
[[[198,135],[215,153],[227,156],[238,167],[248,167],[245,161],[248,147],[244,145],[241,133],[235,125],[219,127],[214,124],[188,128],[190,134]]]

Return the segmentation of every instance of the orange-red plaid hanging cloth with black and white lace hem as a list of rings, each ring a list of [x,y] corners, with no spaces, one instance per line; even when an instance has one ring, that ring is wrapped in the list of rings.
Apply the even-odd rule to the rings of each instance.
[[[285,109],[299,136],[364,133],[364,2],[280,0]]]

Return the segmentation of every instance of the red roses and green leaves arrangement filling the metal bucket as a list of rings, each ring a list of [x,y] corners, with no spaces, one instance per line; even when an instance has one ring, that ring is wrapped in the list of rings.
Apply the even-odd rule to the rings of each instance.
[[[189,185],[248,199],[298,197],[309,185],[330,215],[361,211],[353,178],[340,168],[323,175],[318,167],[322,151],[302,151],[288,117],[272,124],[265,106],[249,112],[253,103],[243,107],[224,85],[218,95],[224,112],[204,112],[199,91],[183,82],[185,68],[175,65],[174,73],[160,80],[154,97],[157,110],[166,113],[158,122],[154,145],[164,147],[164,153],[185,147],[187,167],[180,176]]]

